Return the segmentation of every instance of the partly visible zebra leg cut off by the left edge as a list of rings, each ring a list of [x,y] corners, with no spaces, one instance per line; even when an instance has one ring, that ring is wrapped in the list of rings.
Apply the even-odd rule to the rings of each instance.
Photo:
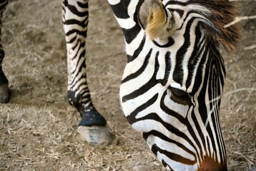
[[[4,48],[1,44],[1,18],[7,4],[8,0],[0,2],[0,103],[9,102],[8,80],[4,75],[4,71],[2,68],[2,62],[4,59]]]

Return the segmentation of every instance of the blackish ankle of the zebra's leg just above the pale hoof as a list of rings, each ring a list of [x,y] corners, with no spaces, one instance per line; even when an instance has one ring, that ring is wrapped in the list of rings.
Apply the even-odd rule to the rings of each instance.
[[[76,93],[72,90],[67,91],[67,100],[70,105],[77,108],[79,111],[82,120],[79,123],[79,126],[105,126],[107,121],[105,118],[94,108],[94,105],[91,102],[91,99],[85,99],[79,93]],[[87,101],[87,103],[83,103]]]

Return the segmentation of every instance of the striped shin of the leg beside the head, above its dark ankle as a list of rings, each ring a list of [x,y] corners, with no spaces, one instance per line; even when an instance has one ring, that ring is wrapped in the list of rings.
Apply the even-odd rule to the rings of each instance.
[[[92,106],[86,76],[86,38],[88,26],[88,1],[62,1],[62,21],[67,41],[68,91],[74,97],[81,96],[78,103]],[[71,95],[72,96],[72,95]],[[74,103],[68,95],[68,100]]]

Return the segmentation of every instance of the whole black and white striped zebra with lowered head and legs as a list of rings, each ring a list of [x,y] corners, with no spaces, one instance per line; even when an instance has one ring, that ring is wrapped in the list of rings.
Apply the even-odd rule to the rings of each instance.
[[[235,3],[108,2],[124,34],[127,65],[119,95],[128,122],[142,133],[167,170],[227,170],[219,121],[225,83],[221,51],[235,48],[239,40],[239,28],[227,26],[236,16]],[[82,116],[78,127],[82,137],[102,145],[112,138],[107,121],[92,104],[87,86],[88,16],[87,0],[62,1],[67,100]],[[2,71],[0,74],[0,88],[5,87],[0,89],[0,96],[4,97],[8,81]]]

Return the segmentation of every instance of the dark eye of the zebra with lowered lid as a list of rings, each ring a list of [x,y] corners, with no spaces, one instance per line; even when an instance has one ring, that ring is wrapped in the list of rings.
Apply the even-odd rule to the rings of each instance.
[[[179,104],[182,105],[189,105],[191,103],[189,93],[185,92],[184,90],[179,90],[178,88],[170,87],[169,90],[171,91],[170,98]]]

